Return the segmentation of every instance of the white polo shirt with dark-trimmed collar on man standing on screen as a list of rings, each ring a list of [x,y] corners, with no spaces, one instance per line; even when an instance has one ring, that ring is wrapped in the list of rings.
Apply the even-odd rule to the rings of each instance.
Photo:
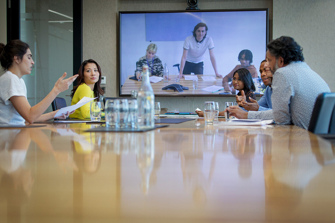
[[[205,59],[205,53],[214,48],[213,40],[206,36],[202,41],[197,42],[193,35],[187,36],[184,41],[184,49],[188,51],[186,61],[200,63]]]

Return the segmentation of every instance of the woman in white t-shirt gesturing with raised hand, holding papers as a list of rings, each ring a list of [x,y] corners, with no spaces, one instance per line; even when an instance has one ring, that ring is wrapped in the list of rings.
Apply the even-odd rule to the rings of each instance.
[[[30,74],[34,61],[29,46],[12,40],[4,45],[0,43],[0,63],[6,72],[0,76],[0,125],[24,125],[53,119],[57,111],[43,114],[55,97],[69,88],[78,75],[64,80],[64,73],[55,83],[51,92],[38,104],[30,106],[27,100],[27,89],[22,76]],[[65,119],[62,114],[57,119]]]

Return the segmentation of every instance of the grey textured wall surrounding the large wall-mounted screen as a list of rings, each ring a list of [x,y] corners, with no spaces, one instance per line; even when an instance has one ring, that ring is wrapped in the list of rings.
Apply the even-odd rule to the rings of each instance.
[[[272,20],[272,0],[202,0],[198,6],[200,9],[269,8]],[[119,94],[118,12],[185,10],[186,7],[186,0],[83,0],[83,60],[92,58],[99,63],[106,76],[106,96]],[[218,101],[223,105],[225,101],[235,101],[235,96],[156,97],[155,100],[161,102],[161,107],[193,111],[197,107],[202,109],[204,101]]]

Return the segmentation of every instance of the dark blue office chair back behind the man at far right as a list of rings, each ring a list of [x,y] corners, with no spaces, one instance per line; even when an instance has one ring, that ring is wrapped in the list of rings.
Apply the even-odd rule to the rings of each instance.
[[[322,93],[315,102],[308,131],[315,134],[335,132],[335,93]]]

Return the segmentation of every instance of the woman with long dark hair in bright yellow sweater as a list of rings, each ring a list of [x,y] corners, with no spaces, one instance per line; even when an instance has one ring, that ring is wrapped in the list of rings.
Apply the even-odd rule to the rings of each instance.
[[[97,97],[94,101],[99,101],[100,95],[104,94],[104,91],[100,87],[101,82],[101,69],[98,63],[94,60],[85,60],[79,68],[77,78],[77,86],[73,87],[71,91],[72,102],[71,105],[76,104],[81,98],[85,97]],[[90,102],[84,104],[80,108],[76,109],[70,118],[75,119],[87,119],[89,115]]]

